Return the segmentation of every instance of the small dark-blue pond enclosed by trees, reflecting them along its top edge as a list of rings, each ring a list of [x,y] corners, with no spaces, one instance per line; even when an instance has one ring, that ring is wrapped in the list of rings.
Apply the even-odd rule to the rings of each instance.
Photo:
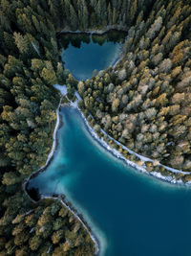
[[[63,34],[59,37],[61,58],[77,80],[90,79],[94,70],[114,65],[121,53],[126,33],[106,35]]]

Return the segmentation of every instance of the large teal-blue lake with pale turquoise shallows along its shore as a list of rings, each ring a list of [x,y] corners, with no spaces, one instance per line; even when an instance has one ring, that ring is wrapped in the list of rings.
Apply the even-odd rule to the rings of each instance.
[[[91,137],[76,109],[64,107],[61,116],[53,161],[29,188],[64,193],[93,227],[101,255],[190,256],[190,189],[125,166]]]

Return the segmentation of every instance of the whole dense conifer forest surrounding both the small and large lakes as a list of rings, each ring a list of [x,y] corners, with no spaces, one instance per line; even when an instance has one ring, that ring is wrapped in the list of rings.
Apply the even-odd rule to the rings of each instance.
[[[190,0],[0,1],[0,256],[93,255],[59,199],[33,203],[24,180],[53,144],[63,71],[60,31],[128,31],[124,58],[80,81],[80,107],[128,148],[191,171]]]

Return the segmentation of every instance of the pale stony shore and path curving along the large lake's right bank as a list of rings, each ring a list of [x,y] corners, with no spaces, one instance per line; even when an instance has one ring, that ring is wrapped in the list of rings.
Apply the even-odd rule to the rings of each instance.
[[[66,85],[59,85],[59,84],[55,84],[54,87],[60,91],[61,95],[62,96],[65,96],[67,97],[67,88],[66,88]],[[156,160],[153,160],[149,157],[145,157],[143,155],[140,155],[138,154],[137,152],[135,151],[131,151],[130,149],[128,149],[127,147],[125,147],[124,145],[122,145],[120,142],[118,142],[117,140],[115,140],[113,137],[111,137],[108,133],[106,133],[102,128],[100,129],[100,132],[103,134],[103,136],[107,136],[110,140],[112,140],[117,146],[121,146],[121,148],[125,151],[128,151],[130,154],[133,154],[135,156],[138,157],[138,159],[142,162],[142,165],[139,166],[138,164],[136,164],[135,162],[133,161],[130,161],[128,159],[126,159],[122,153],[120,153],[119,151],[117,151],[116,149],[113,149],[110,147],[110,145],[108,145],[105,140],[103,139],[103,137],[99,138],[99,136],[96,134],[96,131],[94,130],[94,128],[92,128],[86,117],[84,116],[83,112],[79,109],[78,107],[78,102],[81,99],[81,97],[79,96],[78,92],[75,91],[74,93],[75,97],[76,97],[76,101],[73,103],[69,100],[70,102],[70,105],[77,108],[78,111],[80,112],[85,124],[86,124],[86,127],[88,128],[88,130],[90,131],[90,133],[92,134],[92,136],[99,142],[99,144],[101,144],[107,151],[111,151],[114,155],[117,156],[117,158],[120,158],[121,160],[125,161],[127,165],[129,166],[132,166],[134,168],[136,168],[139,172],[141,173],[145,173],[145,174],[148,174],[148,175],[153,175],[159,179],[162,179],[162,180],[165,180],[167,182],[170,182],[170,183],[173,183],[173,184],[185,184],[185,185],[190,185],[191,184],[191,181],[188,181],[188,182],[183,182],[181,180],[181,178],[177,179],[175,175],[162,175],[161,173],[159,172],[155,172],[155,171],[152,171],[152,172],[148,172],[146,170],[146,165],[145,163],[146,162],[151,162],[151,163],[155,163]],[[92,118],[94,119],[94,117],[92,116]],[[191,175],[191,172],[182,172],[181,170],[177,170],[177,169],[173,169],[171,167],[168,167],[168,166],[165,166],[165,165],[162,165],[160,163],[158,163],[158,166],[159,167],[162,167],[164,168],[165,170],[167,170],[168,172],[171,172],[172,174],[180,174],[180,175]]]

